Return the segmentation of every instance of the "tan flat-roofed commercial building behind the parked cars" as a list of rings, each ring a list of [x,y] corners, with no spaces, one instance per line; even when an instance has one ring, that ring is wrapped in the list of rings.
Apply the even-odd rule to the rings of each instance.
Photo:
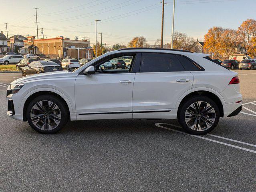
[[[35,36],[28,36],[28,40],[24,40],[25,54],[37,54],[41,57],[65,58],[65,56],[75,56],[78,58],[92,58],[93,48],[90,47],[89,38],[70,40],[58,36],[56,38],[35,39]],[[72,51],[72,50],[75,50]],[[74,55],[75,53],[75,55]]]

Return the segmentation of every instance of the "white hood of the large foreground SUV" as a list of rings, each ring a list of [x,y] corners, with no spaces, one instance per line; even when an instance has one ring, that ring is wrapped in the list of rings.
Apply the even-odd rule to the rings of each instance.
[[[41,73],[41,74],[26,76],[26,77],[14,80],[13,82],[11,82],[11,84],[26,83],[28,81],[41,80],[41,79],[54,80],[54,78],[67,78],[67,77],[73,77],[73,76],[77,76],[77,73],[72,73],[68,71],[48,72],[48,73]]]

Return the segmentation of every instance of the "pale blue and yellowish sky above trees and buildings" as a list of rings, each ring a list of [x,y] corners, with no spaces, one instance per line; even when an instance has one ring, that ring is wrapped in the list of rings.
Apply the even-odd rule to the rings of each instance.
[[[164,44],[171,41],[173,0],[165,0]],[[204,40],[209,28],[221,26],[237,29],[244,20],[256,19],[256,0],[175,0],[174,31]],[[0,0],[0,31],[8,37],[20,34],[90,38],[95,43],[97,32],[108,46],[128,44],[134,36],[145,36],[153,45],[161,38],[161,0]],[[100,34],[97,34],[100,40]]]

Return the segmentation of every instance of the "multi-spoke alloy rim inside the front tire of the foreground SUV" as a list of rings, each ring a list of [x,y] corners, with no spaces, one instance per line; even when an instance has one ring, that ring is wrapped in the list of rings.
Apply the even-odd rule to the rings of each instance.
[[[52,130],[60,124],[60,108],[53,102],[39,101],[31,109],[30,118],[34,126],[40,130]]]

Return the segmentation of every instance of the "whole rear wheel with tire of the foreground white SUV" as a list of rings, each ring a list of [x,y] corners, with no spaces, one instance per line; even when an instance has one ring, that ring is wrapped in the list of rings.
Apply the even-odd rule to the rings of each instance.
[[[182,103],[177,119],[190,134],[203,135],[216,127],[220,119],[220,110],[212,99],[194,96]]]

